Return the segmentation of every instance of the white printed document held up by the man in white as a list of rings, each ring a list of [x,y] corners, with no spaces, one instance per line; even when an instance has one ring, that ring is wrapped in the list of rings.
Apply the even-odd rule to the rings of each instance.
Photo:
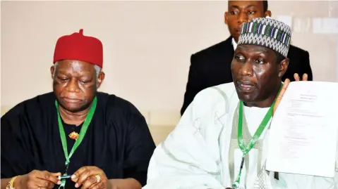
[[[266,169],[334,177],[338,83],[291,82],[270,126]]]

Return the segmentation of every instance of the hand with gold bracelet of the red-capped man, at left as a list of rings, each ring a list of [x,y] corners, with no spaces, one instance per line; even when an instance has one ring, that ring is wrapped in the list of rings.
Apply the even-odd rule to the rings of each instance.
[[[61,173],[34,170],[29,174],[18,176],[14,181],[14,187],[16,189],[49,189],[56,184],[61,184],[58,176],[61,176]]]

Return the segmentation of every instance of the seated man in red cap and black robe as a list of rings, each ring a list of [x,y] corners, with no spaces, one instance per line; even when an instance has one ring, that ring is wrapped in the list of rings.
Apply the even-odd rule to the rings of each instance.
[[[1,188],[141,188],[155,143],[133,104],[98,92],[102,43],[59,38],[53,92],[1,117]]]

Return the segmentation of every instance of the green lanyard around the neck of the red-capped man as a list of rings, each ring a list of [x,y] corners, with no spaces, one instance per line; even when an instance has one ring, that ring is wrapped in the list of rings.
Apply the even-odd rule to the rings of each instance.
[[[62,142],[62,148],[64,148],[64,156],[66,157],[66,171],[64,173],[64,176],[67,175],[67,170],[68,170],[68,165],[71,156],[73,155],[73,153],[75,152],[76,148],[78,148],[78,146],[80,145],[80,143],[82,142],[83,138],[85,137],[85,133],[88,129],[88,126],[90,124],[90,122],[92,121],[92,116],[95,113],[95,109],[96,109],[96,104],[97,104],[97,98],[95,96],[94,100],[92,101],[92,107],[90,107],[90,110],[88,112],[87,117],[85,117],[85,122],[83,123],[83,126],[80,130],[80,134],[78,136],[78,138],[76,139],[76,142],[73,145],[73,148],[71,148],[71,152],[68,155],[68,148],[67,148],[67,141],[66,141],[66,133],[64,132],[64,126],[62,125],[62,121],[61,121],[61,116],[60,116],[60,111],[59,111],[59,104],[57,103],[57,100],[55,100],[55,106],[56,106],[56,110],[57,110],[57,115],[58,115],[58,122],[59,122],[59,131],[60,131],[60,137],[61,137],[61,142]],[[64,188],[66,185],[66,180],[62,179],[61,180],[61,185],[59,186],[59,188]]]

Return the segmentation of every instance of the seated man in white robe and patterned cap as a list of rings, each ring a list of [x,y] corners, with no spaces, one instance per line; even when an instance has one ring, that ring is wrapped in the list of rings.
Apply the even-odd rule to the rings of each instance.
[[[234,82],[198,93],[155,149],[144,189],[334,188],[334,178],[265,169],[272,115],[290,82],[282,83],[290,39],[290,28],[277,20],[242,25],[231,63]]]

